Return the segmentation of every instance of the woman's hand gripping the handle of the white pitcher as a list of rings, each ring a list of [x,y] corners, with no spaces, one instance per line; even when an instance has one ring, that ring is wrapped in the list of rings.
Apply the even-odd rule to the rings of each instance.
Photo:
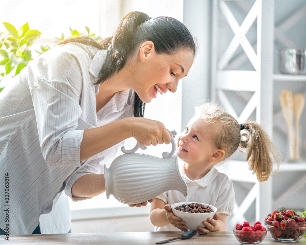
[[[156,146],[157,144],[169,144],[171,142],[170,131],[159,121],[133,117],[131,126],[132,137],[143,146]]]

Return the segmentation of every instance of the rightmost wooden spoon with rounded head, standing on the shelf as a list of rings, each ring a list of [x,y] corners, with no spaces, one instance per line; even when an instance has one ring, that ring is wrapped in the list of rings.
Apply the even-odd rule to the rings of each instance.
[[[294,139],[294,155],[293,159],[298,160],[299,156],[299,126],[300,117],[305,106],[305,98],[301,93],[295,93],[293,95],[293,110],[295,113],[295,139]]]

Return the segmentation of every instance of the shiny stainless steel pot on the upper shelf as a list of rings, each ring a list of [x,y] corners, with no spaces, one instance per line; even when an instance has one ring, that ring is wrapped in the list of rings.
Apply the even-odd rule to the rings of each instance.
[[[281,72],[306,74],[306,49],[286,49],[283,51]]]

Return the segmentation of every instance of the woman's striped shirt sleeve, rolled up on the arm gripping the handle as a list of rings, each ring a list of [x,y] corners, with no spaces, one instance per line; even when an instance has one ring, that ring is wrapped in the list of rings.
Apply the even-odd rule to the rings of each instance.
[[[80,167],[84,130],[76,130],[82,110],[80,94],[63,82],[39,84],[31,93],[43,157],[50,167]]]

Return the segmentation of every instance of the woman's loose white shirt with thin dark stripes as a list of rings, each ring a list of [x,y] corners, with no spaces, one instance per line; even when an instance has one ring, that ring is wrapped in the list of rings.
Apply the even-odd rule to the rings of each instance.
[[[79,43],[54,46],[30,61],[0,93],[0,205],[6,173],[9,203],[4,205],[10,205],[9,222],[1,205],[0,228],[9,223],[9,234],[31,234],[39,216],[47,213],[40,218],[42,233],[68,232],[67,222],[64,228],[48,227],[48,222],[70,222],[62,191],[71,197],[76,179],[103,173],[103,164],[110,165],[123,144],[80,162],[84,129],[132,117],[130,90],[117,92],[96,112],[99,85],[92,84],[105,54],[106,50]]]

